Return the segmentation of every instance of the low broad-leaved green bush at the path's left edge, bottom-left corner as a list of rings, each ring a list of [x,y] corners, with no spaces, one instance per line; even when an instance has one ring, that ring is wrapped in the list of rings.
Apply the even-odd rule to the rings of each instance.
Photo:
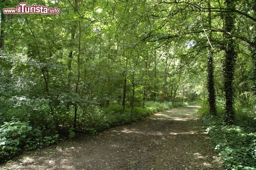
[[[32,128],[28,122],[4,122],[0,128],[0,158],[4,160],[21,150],[50,145],[57,139],[58,134],[43,136],[41,129]]]

